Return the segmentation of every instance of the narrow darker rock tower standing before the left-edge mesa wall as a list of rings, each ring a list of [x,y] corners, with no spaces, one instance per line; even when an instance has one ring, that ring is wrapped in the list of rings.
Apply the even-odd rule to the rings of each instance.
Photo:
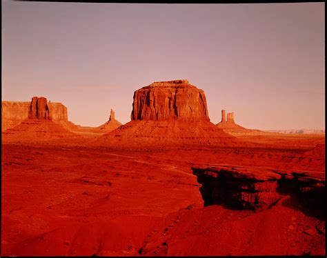
[[[52,120],[48,100],[45,97],[32,97],[28,118]]]

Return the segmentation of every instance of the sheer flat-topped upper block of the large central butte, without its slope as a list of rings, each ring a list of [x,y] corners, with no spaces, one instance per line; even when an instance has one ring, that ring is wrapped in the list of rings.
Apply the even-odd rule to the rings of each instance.
[[[204,91],[188,80],[159,81],[136,90],[131,119],[210,121]]]

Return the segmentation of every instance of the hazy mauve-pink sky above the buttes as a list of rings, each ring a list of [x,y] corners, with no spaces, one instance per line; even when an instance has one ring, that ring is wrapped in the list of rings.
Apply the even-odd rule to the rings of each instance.
[[[127,123],[135,90],[188,79],[212,123],[224,109],[246,128],[325,128],[324,3],[1,3],[2,100]]]

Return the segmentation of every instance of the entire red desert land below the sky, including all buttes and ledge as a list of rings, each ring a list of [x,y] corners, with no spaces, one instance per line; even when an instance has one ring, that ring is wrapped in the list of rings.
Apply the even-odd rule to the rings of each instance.
[[[135,91],[123,125],[1,108],[1,256],[326,255],[324,134],[215,125],[187,80]]]

